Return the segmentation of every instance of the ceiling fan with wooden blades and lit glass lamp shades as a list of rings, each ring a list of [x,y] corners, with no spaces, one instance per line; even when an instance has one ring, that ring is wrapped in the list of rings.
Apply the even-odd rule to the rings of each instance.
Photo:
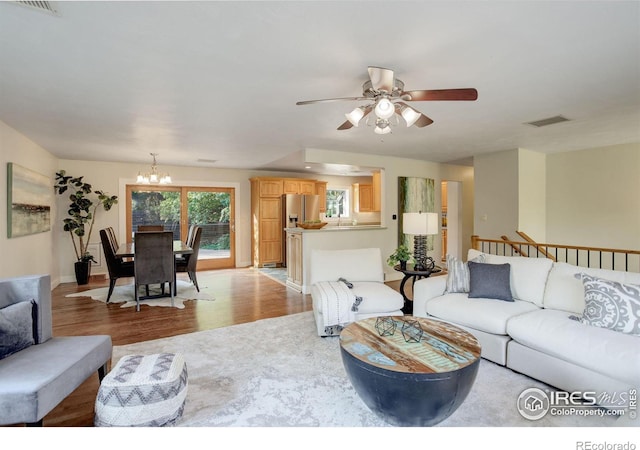
[[[370,101],[371,103],[358,106],[350,113],[345,114],[347,121],[340,125],[338,130],[357,127],[360,120],[368,116],[371,111],[374,111],[376,115],[376,128],[374,131],[377,134],[387,134],[391,132],[389,119],[395,114],[402,116],[407,123],[407,127],[415,125],[422,128],[433,123],[433,120],[405,102],[473,101],[477,98],[478,91],[473,88],[405,91],[404,83],[395,77],[393,70],[369,66],[369,80],[362,85],[362,96],[305,100],[297,102],[296,105],[345,100]]]

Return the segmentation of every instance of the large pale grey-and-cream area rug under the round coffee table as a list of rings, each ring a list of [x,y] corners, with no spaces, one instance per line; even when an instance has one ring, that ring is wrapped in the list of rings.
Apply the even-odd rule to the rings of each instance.
[[[312,312],[139,342],[113,349],[113,364],[129,354],[184,355],[186,427],[388,427],[355,392],[344,371],[339,338],[316,334]],[[481,360],[467,399],[439,427],[604,427],[612,418],[523,418],[525,389],[548,386]]]

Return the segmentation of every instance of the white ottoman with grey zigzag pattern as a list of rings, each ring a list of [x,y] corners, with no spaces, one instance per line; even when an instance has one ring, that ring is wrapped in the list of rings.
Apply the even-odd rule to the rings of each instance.
[[[162,427],[182,417],[187,365],[177,353],[123,356],[98,389],[97,427]]]

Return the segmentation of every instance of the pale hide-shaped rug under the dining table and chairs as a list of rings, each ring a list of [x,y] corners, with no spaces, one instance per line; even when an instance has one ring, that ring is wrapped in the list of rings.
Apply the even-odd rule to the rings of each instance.
[[[204,281],[204,283],[203,283]],[[205,280],[198,280],[200,292],[198,292],[193,284],[187,281],[178,280],[176,282],[177,293],[173,298],[175,308],[184,309],[184,302],[188,300],[208,300],[213,301],[215,298],[210,292]],[[168,291],[168,286],[165,287]],[[93,300],[100,302],[107,301],[108,287],[90,289],[88,291],[69,294],[66,297],[91,297]],[[149,289],[149,294],[155,295],[160,293],[160,287],[155,286]],[[140,295],[146,295],[144,288],[140,289]],[[136,306],[135,291],[133,283],[116,285],[109,299],[109,303],[122,303],[121,308],[129,308]],[[171,297],[161,297],[148,300],[140,300],[141,305],[164,306],[171,307]]]

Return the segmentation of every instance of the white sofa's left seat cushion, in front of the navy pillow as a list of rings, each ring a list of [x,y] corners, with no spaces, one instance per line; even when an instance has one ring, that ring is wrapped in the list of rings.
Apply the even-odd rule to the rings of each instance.
[[[427,314],[486,333],[506,335],[507,321],[520,314],[537,311],[530,302],[501,302],[469,298],[467,294],[445,294],[427,302]]]

